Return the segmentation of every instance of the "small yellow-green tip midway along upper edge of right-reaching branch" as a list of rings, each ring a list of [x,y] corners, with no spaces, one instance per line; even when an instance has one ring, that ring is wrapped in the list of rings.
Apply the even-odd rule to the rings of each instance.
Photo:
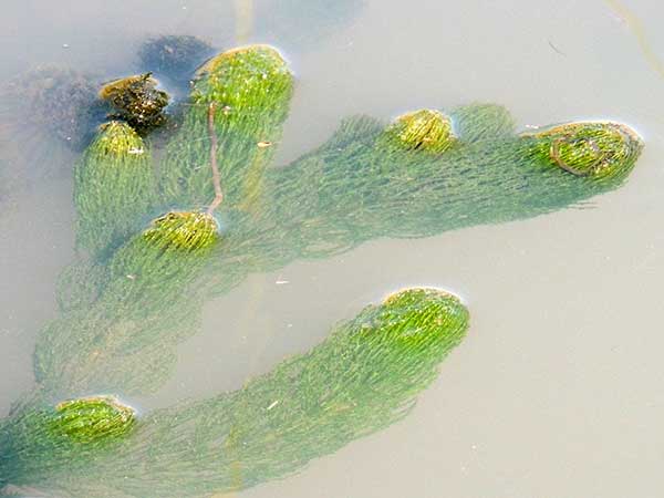
[[[385,131],[391,141],[409,151],[442,153],[456,139],[452,122],[438,111],[421,110],[404,114]]]

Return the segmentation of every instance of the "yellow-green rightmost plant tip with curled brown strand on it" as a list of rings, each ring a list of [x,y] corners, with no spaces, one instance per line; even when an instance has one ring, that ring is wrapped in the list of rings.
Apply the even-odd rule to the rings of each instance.
[[[643,148],[641,137],[627,125],[579,122],[533,134],[535,152],[542,159],[577,176],[622,179],[632,170]]]

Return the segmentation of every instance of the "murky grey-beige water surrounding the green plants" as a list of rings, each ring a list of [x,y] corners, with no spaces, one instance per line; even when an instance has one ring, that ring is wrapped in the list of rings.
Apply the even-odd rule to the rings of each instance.
[[[157,4],[158,3],[158,4]],[[336,2],[324,18],[256,1],[7,2],[0,76],[65,64],[111,79],[135,70],[146,34],[219,49],[272,43],[297,87],[278,162],[325,141],[341,118],[388,118],[473,101],[520,128],[570,120],[630,124],[646,143],[630,180],[525,221],[381,239],[326,260],[253,274],[208,302],[203,331],[143,409],[238,388],[322,342],[330,325],[407,286],[463,297],[471,328],[404,421],[246,497],[655,497],[664,436],[664,34],[653,1]],[[290,2],[292,4],[297,2]],[[290,9],[290,10],[289,10]],[[9,151],[9,149],[7,149]],[[27,156],[29,151],[19,151]],[[43,156],[42,156],[43,157]],[[69,153],[2,191],[0,409],[30,390],[37,333],[58,313],[73,258]],[[10,184],[11,185],[11,184]]]

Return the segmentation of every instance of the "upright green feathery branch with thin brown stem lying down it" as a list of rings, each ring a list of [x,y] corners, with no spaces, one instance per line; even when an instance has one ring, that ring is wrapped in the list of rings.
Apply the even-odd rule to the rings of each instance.
[[[286,62],[270,46],[236,49],[207,62],[194,84],[184,123],[166,149],[160,178],[165,204],[200,208],[215,197],[211,127],[218,139],[224,203],[250,205],[272,158],[272,145],[281,136],[292,86]]]

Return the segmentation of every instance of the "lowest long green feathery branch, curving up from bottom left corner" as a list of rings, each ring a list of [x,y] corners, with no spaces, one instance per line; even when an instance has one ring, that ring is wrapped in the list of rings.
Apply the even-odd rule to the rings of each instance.
[[[8,480],[74,497],[204,497],[284,477],[403,418],[467,326],[455,297],[401,291],[239,391],[139,418],[113,453],[72,459],[48,446],[43,466],[20,461]],[[14,442],[1,450],[6,468],[43,433],[13,419],[4,430]]]

